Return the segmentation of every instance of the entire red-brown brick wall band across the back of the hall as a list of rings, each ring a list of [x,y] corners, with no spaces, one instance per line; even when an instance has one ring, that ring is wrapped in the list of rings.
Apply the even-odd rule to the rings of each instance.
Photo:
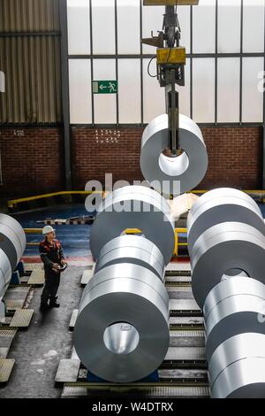
[[[261,127],[202,127],[208,147],[208,173],[198,189],[230,186],[261,189]],[[72,189],[87,181],[143,180],[140,173],[142,127],[115,131],[72,127]],[[0,128],[0,196],[23,197],[64,190],[61,127]]]

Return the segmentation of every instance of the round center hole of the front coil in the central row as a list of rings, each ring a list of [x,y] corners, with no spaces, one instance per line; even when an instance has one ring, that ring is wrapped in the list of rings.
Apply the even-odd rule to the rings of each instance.
[[[108,350],[114,354],[130,354],[136,349],[140,336],[130,323],[115,322],[106,327],[103,339]]]

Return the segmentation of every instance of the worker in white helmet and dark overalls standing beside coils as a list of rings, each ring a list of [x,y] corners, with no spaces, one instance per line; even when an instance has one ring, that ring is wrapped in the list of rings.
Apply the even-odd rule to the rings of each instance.
[[[40,243],[39,250],[44,263],[45,286],[40,309],[46,311],[48,308],[60,307],[60,304],[57,303],[57,290],[60,284],[61,267],[66,265],[66,262],[63,247],[55,238],[55,229],[45,226],[42,229],[42,234],[45,235],[45,239]]]

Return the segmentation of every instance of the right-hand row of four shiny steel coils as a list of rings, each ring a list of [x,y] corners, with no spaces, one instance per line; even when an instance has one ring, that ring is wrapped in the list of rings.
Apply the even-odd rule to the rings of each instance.
[[[215,189],[193,205],[187,226],[193,295],[205,318],[212,397],[265,397],[264,354],[255,345],[256,338],[265,345],[259,320],[265,313],[261,211],[239,190]],[[261,370],[249,371],[252,365],[258,369],[259,359]]]

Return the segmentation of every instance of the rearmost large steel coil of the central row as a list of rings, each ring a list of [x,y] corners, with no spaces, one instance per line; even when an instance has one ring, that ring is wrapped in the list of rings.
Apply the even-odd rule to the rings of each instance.
[[[126,228],[139,228],[162,252],[165,265],[175,245],[175,223],[170,204],[155,190],[130,186],[106,196],[98,208],[90,235],[93,257],[98,259],[103,246],[122,235]]]

